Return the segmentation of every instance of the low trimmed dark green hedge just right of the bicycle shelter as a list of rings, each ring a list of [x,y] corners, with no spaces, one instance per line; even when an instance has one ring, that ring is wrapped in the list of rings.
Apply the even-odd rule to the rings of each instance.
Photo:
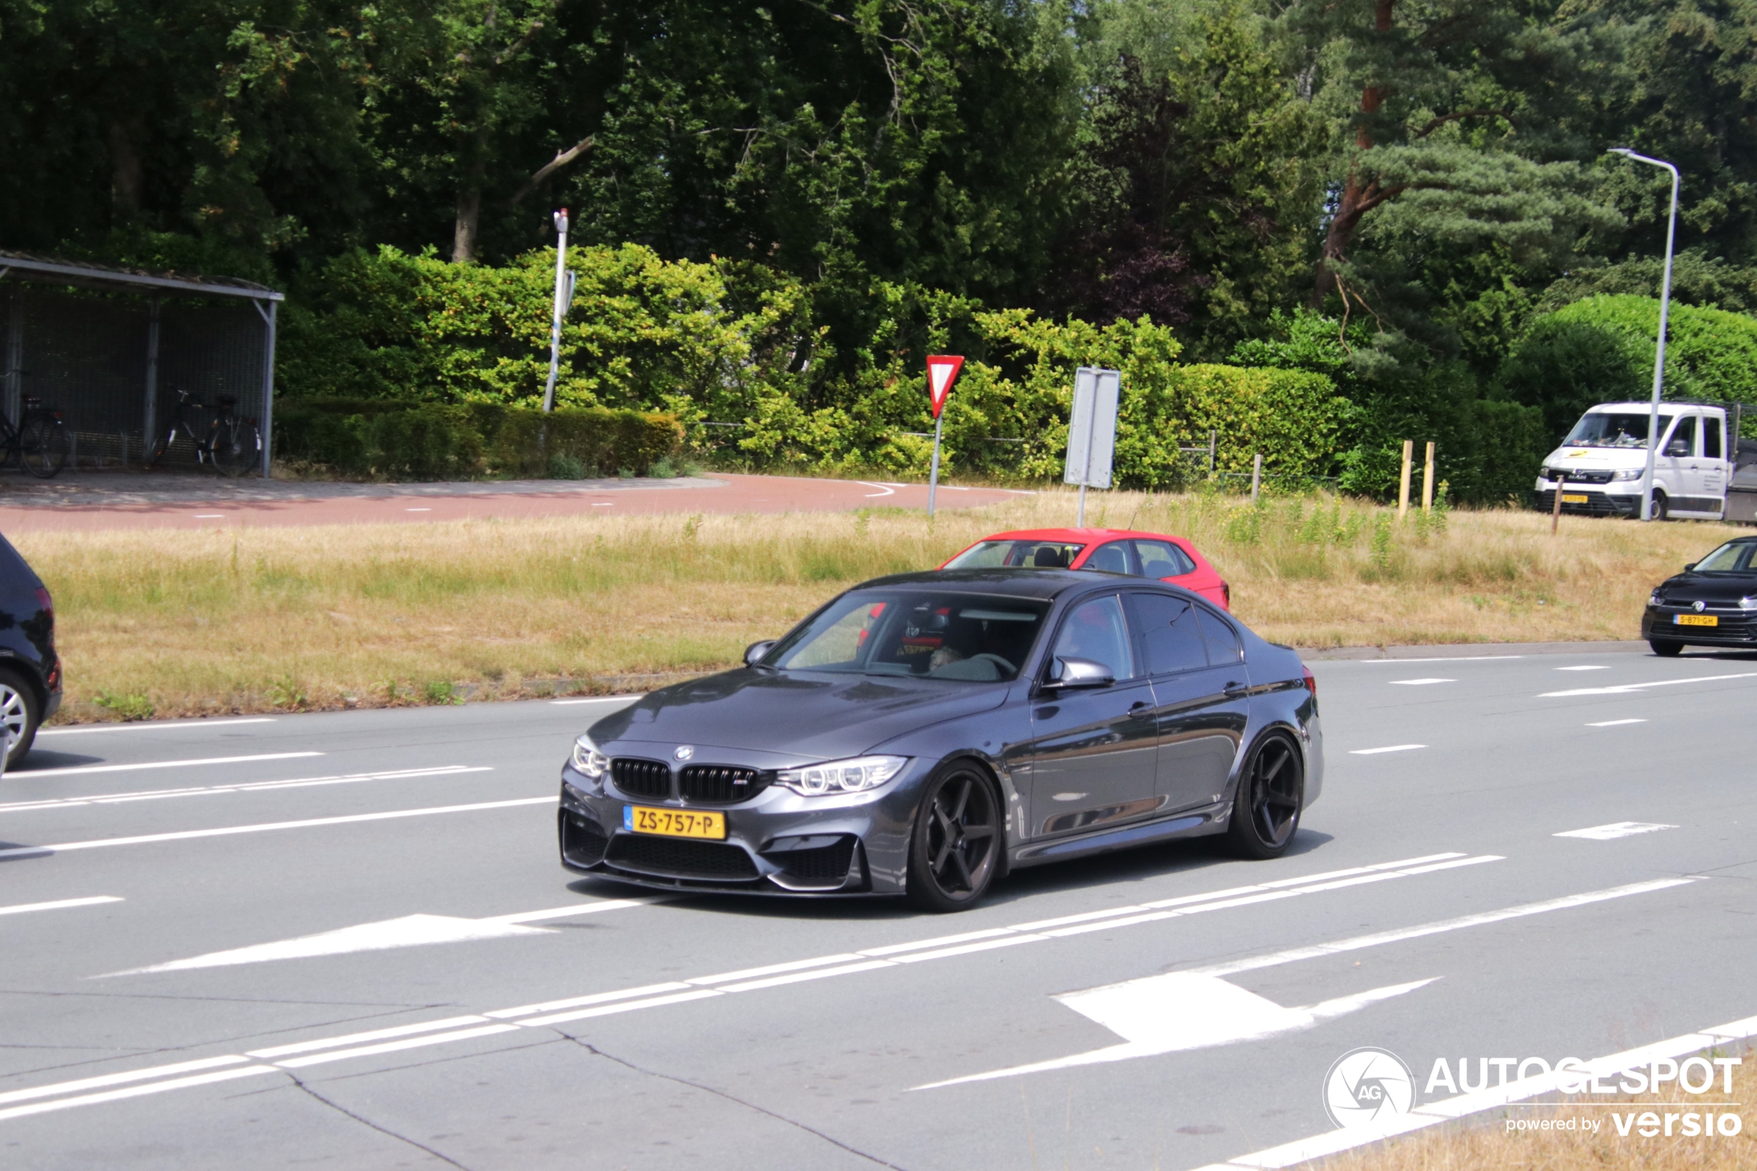
[[[555,456],[589,474],[640,474],[675,455],[682,439],[671,414],[608,407],[543,414],[490,402],[290,399],[274,418],[278,456],[387,479],[546,476]]]

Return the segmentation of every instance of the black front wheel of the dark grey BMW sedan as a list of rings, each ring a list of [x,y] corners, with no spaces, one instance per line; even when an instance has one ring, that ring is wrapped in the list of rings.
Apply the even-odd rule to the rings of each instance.
[[[908,897],[926,911],[965,911],[994,881],[1001,806],[994,781],[954,762],[928,779],[908,848]]]

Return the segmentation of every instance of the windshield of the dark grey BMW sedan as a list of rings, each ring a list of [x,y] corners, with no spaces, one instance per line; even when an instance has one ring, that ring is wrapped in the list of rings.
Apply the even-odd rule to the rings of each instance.
[[[784,671],[1000,683],[1019,674],[1047,602],[973,593],[861,590],[764,657]]]

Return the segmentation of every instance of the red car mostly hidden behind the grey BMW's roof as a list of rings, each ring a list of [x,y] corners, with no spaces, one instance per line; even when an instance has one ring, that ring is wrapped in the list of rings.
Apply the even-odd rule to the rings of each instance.
[[[1197,546],[1163,532],[1128,528],[1021,528],[982,537],[940,569],[1095,569],[1132,578],[1158,578],[1232,609],[1232,586],[1197,553]]]

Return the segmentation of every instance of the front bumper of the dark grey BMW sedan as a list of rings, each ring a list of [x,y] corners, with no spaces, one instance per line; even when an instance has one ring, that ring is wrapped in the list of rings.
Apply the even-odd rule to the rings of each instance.
[[[801,797],[764,788],[738,804],[631,797],[604,776],[562,767],[557,837],[569,871],[662,890],[740,894],[903,894],[915,790],[926,774],[912,762],[870,794]],[[726,839],[668,837],[625,829],[631,806],[712,809],[726,815]]]

